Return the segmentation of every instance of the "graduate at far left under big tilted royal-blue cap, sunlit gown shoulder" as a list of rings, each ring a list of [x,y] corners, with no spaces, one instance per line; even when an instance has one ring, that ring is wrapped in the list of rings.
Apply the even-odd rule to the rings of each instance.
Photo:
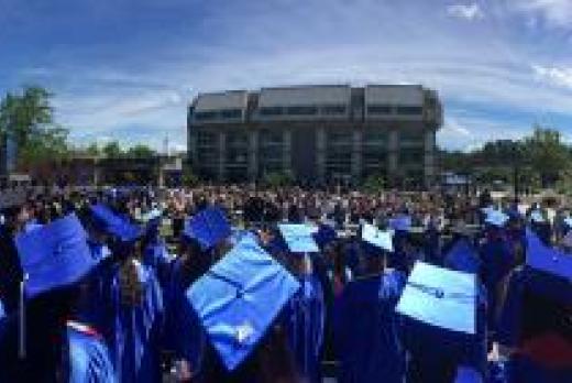
[[[22,233],[16,247],[26,275],[25,316],[10,318],[13,327],[0,349],[0,381],[117,382],[102,338],[74,309],[80,306],[78,285],[89,281],[98,263],[77,217]],[[18,325],[22,318],[23,329]]]

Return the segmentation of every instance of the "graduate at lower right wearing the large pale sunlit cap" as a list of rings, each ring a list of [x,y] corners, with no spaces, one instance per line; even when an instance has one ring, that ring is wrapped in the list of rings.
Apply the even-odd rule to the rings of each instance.
[[[484,363],[474,364],[475,354],[485,357],[477,288],[475,274],[415,264],[396,307],[404,320],[407,382],[450,383],[468,369],[482,377]]]

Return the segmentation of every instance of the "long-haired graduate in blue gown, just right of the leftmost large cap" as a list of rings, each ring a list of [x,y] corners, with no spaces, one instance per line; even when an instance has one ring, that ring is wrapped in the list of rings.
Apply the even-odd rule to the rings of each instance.
[[[141,262],[141,229],[105,206],[95,206],[92,211],[112,238],[116,262],[101,307],[113,365],[122,382],[157,382],[163,294],[154,270]]]

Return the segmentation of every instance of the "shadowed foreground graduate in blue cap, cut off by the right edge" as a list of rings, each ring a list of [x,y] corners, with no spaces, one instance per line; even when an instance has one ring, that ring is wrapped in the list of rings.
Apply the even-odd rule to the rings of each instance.
[[[571,278],[571,255],[527,230],[526,264],[510,275],[498,331],[508,383],[572,380]]]

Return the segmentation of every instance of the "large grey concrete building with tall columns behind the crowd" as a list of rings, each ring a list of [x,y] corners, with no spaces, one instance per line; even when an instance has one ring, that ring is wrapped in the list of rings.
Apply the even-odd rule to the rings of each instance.
[[[369,176],[430,184],[437,175],[436,91],[414,85],[323,85],[199,94],[188,155],[204,179],[358,184]]]

